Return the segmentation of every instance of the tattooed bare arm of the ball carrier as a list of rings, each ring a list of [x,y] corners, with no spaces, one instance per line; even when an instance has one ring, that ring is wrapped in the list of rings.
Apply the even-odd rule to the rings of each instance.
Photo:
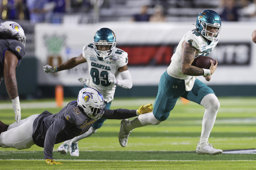
[[[185,41],[184,41],[185,42]],[[191,75],[191,76],[199,76],[203,75],[203,69],[191,66],[194,61],[195,53],[197,50],[193,48],[190,44],[184,43],[182,44],[182,54],[181,54],[181,70],[183,74]]]

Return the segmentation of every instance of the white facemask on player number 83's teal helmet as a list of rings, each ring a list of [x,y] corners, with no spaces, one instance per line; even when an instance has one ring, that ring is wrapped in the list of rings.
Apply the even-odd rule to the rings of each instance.
[[[101,46],[104,45],[106,46],[105,49],[107,50],[101,50]],[[113,52],[113,49],[115,48],[116,43],[115,42],[107,42],[106,40],[99,40],[99,42],[94,41],[93,42],[93,47],[96,52],[96,55],[98,57],[103,58],[105,60],[106,57],[110,56]]]

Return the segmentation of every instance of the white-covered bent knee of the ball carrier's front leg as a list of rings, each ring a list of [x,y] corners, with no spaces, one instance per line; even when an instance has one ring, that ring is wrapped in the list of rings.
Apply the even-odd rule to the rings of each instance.
[[[213,109],[218,111],[220,107],[219,100],[213,93],[205,95],[200,104],[207,110]]]

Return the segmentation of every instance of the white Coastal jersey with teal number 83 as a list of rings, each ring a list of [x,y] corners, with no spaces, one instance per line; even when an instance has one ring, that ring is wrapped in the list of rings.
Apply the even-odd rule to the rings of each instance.
[[[83,57],[88,62],[88,71],[91,74],[89,84],[86,86],[94,87],[104,96],[104,100],[108,103],[114,99],[116,85],[108,81],[108,73],[118,76],[118,68],[127,65],[128,54],[119,48],[114,48],[113,53],[99,60],[93,48],[93,44],[87,44],[83,47]]]

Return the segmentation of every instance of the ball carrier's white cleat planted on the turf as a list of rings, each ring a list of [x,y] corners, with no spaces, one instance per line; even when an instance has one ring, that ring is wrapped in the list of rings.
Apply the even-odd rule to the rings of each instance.
[[[197,143],[197,149],[195,150],[199,155],[219,155],[222,154],[221,149],[215,149],[208,141],[202,144]]]

